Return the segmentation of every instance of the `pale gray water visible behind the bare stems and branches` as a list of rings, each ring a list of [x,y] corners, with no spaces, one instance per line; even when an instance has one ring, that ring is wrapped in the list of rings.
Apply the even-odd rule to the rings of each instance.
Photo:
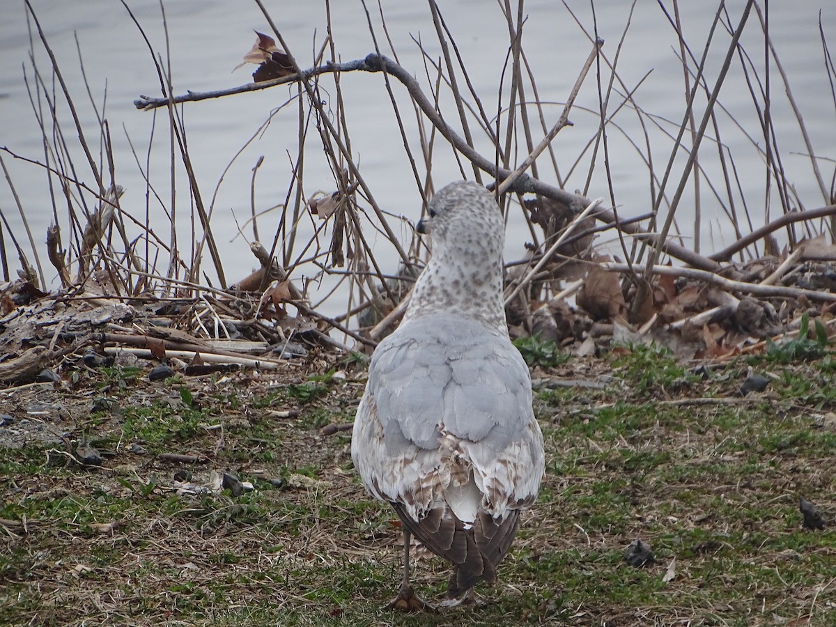
[[[74,37],[78,38],[89,87],[99,108],[106,93],[104,116],[110,124],[117,168],[116,178],[126,189],[122,199],[123,208],[140,219],[145,215],[145,181],[135,164],[135,157],[131,155],[128,137],[133,141],[140,163],[145,164],[145,160],[150,159],[150,181],[163,204],[170,206],[171,168],[165,110],[158,110],[155,116],[150,112],[135,110],[133,104],[133,100],[140,94],[159,95],[159,83],[148,48],[125,8],[115,0],[33,0],[32,4],[48,43],[59,60],[59,67],[69,85],[82,117],[84,130],[94,150],[99,150],[98,132],[84,87]],[[313,51],[318,50],[324,40],[325,4],[298,0],[266,4],[300,64],[313,64]],[[373,51],[374,44],[362,4],[342,0],[331,4],[338,60],[359,59]],[[421,51],[410,38],[420,38],[428,53],[437,59],[440,47],[429,9],[424,3],[407,3],[403,0],[383,0],[381,4],[386,27],[399,55],[400,64],[410,69],[429,93]],[[508,45],[507,25],[499,4],[487,0],[440,4],[444,18],[465,59],[472,83],[480,94],[488,115],[495,115]],[[697,57],[701,54],[711,25],[713,4],[681,2],[686,39]],[[737,23],[740,18],[743,4],[742,0],[728,3],[733,23]],[[129,5],[145,28],[155,52],[165,56],[166,40],[159,3],[129,0]],[[824,32],[833,46],[836,42],[836,8],[833,8],[833,3],[825,3],[823,0],[772,2],[770,5],[772,40],[788,74],[793,95],[803,113],[813,142],[813,150],[822,157],[819,165],[825,183],[830,186],[833,160],[836,159],[836,106],[833,104],[831,85],[824,69],[818,19],[821,11]],[[589,2],[571,1],[568,2],[568,6],[578,15],[584,28],[592,32],[594,23]],[[625,2],[599,2],[595,3],[595,8],[599,36],[606,40],[604,51],[609,59],[613,59],[627,23],[630,5]],[[231,70],[251,47],[255,39],[252,29],[269,33],[268,24],[255,3],[166,0],[165,9],[170,33],[171,74],[175,93],[185,93],[186,90],[222,89],[250,80],[254,66],[238,69],[234,74]],[[369,9],[381,47],[386,54],[391,54],[385,45],[376,3],[369,3]],[[672,13],[672,8],[670,11]],[[523,33],[523,48],[536,77],[540,99],[549,103],[562,103],[589,55],[591,44],[562,3],[554,0],[530,1],[525,3],[525,13],[528,14],[528,22]],[[37,31],[35,37],[37,38]],[[718,33],[717,43],[711,48],[707,74],[710,84],[713,84],[719,72],[728,39],[725,31]],[[749,18],[742,42],[752,56],[756,68],[764,75],[762,33],[754,12]],[[48,74],[48,58],[43,46],[36,41],[34,49],[38,69],[45,73],[47,80],[51,80]],[[619,74],[632,89],[650,72],[650,76],[635,92],[635,99],[645,111],[659,116],[660,125],[669,133],[675,133],[685,110],[682,69],[675,54],[678,49],[675,33],[659,5],[650,0],[640,0],[624,39],[619,58]],[[22,66],[26,65],[31,84],[32,66],[28,50],[29,38],[24,5],[17,0],[3,0],[3,21],[0,23],[0,145],[8,147],[17,155],[43,161],[38,125],[23,82]],[[584,83],[576,109],[571,115],[573,127],[564,129],[553,143],[564,174],[569,171],[584,145],[597,130],[598,115],[594,111],[598,108],[598,92],[594,73],[595,69]],[[604,84],[608,78],[609,75],[604,76]],[[828,204],[813,177],[810,160],[806,156],[807,149],[798,132],[798,122],[789,107],[780,76],[774,67],[771,81],[772,118],[788,179],[793,182],[794,190],[803,206],[815,208]],[[333,82],[325,81],[325,84],[333,85]],[[382,76],[364,73],[344,74],[341,84],[352,150],[365,180],[375,195],[375,200],[385,211],[395,216],[415,219],[421,210],[421,195],[405,157],[403,142],[395,125],[395,116]],[[395,84],[394,89],[406,120],[411,148],[416,156],[420,155],[415,115],[408,100],[403,98],[404,89],[400,88],[399,84]],[[212,199],[224,169],[237,151],[263,124],[271,111],[287,103],[294,93],[295,88],[282,86],[253,94],[189,103],[183,107],[189,152],[201,186],[201,194],[207,204]],[[327,93],[331,98],[335,97],[333,87]],[[531,94],[528,96],[531,97]],[[764,222],[767,213],[775,217],[781,209],[777,205],[774,185],[772,194],[767,196],[767,179],[762,155],[746,137],[746,134],[751,135],[758,145],[764,145],[752,99],[737,60],[721,89],[720,100],[729,110],[729,115],[720,115],[721,135],[735,158],[743,184],[742,196],[747,201],[752,220],[757,227]],[[63,104],[63,98],[59,97],[59,102],[62,103],[60,117],[64,135],[67,140],[74,140],[74,127]],[[502,103],[505,102],[507,96],[503,94]],[[614,98],[610,110],[613,110],[618,102],[619,100]],[[449,99],[442,99],[441,108],[446,112],[447,119],[453,121],[456,120],[456,115],[449,104]],[[561,107],[558,104],[546,107],[548,125],[552,125],[558,119],[560,111]],[[700,115],[701,107],[698,107],[697,123]],[[732,117],[736,121],[732,121]],[[628,108],[621,110],[614,121],[624,129],[622,135],[615,127],[609,128],[609,162],[613,173],[615,201],[619,206],[619,215],[630,217],[648,212],[651,199],[647,167],[638,157],[635,148],[625,139],[625,135],[638,141],[643,150],[644,138],[637,124],[637,116]],[[263,155],[265,161],[257,178],[257,209],[263,210],[283,202],[291,180],[291,160],[298,150],[297,122],[296,104],[279,110],[263,134],[237,157],[226,175],[223,175],[214,202],[212,230],[221,249],[227,282],[232,283],[242,278],[257,265],[247,247],[247,242],[252,239],[252,231],[245,228],[244,237],[237,236],[237,223],[246,222],[250,213],[252,167],[258,157]],[[743,130],[737,128],[738,124]],[[154,125],[156,130],[149,157],[146,153],[149,150]],[[650,132],[651,143],[654,146],[655,170],[661,174],[670,155],[671,142],[659,130],[651,128]],[[538,140],[538,137],[534,138],[535,143]],[[440,140],[436,140],[436,144],[441,145]],[[492,150],[484,137],[477,137],[477,147],[484,154],[492,156]],[[517,160],[522,161],[525,153],[524,146],[519,146]],[[82,153],[74,149],[73,155],[75,165],[79,168],[79,178],[89,186],[94,186],[94,177],[90,174]],[[704,143],[701,155],[712,180],[719,184],[715,145],[711,142]],[[47,267],[42,243],[44,232],[53,220],[47,177],[38,166],[15,160],[6,153],[3,153],[3,159],[25,208],[48,281],[53,281],[54,287],[54,271]],[[588,152],[582,158],[581,166],[576,168],[569,179],[566,185],[568,189],[584,186],[589,159]],[[599,154],[597,159],[599,164],[603,163],[603,154]],[[432,163],[436,185],[461,177],[451,150],[446,147],[436,147]],[[553,173],[548,170],[548,162],[544,161],[541,167],[546,173],[543,176],[553,182]],[[421,164],[419,168],[421,176],[424,176]],[[677,180],[678,177],[675,177],[668,187],[669,194],[672,194]],[[315,132],[312,132],[308,139],[304,182],[307,195],[317,190],[330,192],[335,189],[334,176],[329,170]],[[589,188],[589,196],[607,197],[605,183],[604,168],[597,166]],[[187,217],[191,213],[190,198],[186,178],[181,172],[178,172],[176,188],[180,216],[178,231],[183,241],[189,241],[191,225]],[[737,198],[738,203],[741,200],[740,197]],[[62,221],[66,233],[67,212],[62,208],[60,197],[58,201],[59,221]],[[152,228],[167,240],[168,222],[160,203],[155,201],[153,195],[149,206]],[[28,248],[17,207],[10,188],[5,183],[0,185],[0,208],[11,223],[13,233]],[[740,207],[738,210],[740,211]],[[703,189],[702,211],[702,252],[711,252],[735,239],[733,229],[721,212],[719,202],[711,196],[707,187]],[[272,240],[278,218],[278,212],[261,218],[259,227],[263,240]],[[685,237],[691,237],[694,221],[693,196],[690,191],[677,212],[677,219]],[[314,218],[306,217],[301,225],[303,233],[299,239],[307,241],[315,224]],[[400,237],[408,241],[409,231],[405,222],[395,221],[393,225]],[[748,227],[742,227],[742,230],[747,232]],[[329,232],[323,237],[324,246],[327,246],[329,237]],[[377,246],[376,256],[379,255],[380,259],[390,265],[390,268],[386,269],[394,270],[396,257],[384,239],[376,235],[371,228],[367,237]],[[506,257],[521,257],[523,242],[527,238],[530,238],[528,229],[522,222],[512,222]],[[686,239],[686,245],[690,243],[690,240]],[[183,254],[189,257],[190,253],[186,250]],[[15,262],[13,252],[9,251],[8,255],[10,261]],[[164,268],[165,265],[163,261],[160,267]],[[13,263],[13,266],[17,267],[17,263]],[[203,268],[206,269],[208,278],[214,282],[216,279],[207,260],[203,263]],[[296,278],[311,276],[316,271],[317,268],[314,267],[303,268]],[[326,280],[324,287],[331,284],[333,279]],[[344,303],[329,303],[328,308],[334,313],[344,308]]]

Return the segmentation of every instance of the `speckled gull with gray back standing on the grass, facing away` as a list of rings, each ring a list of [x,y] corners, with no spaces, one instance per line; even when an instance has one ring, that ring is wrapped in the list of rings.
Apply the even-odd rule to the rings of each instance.
[[[528,367],[508,338],[496,201],[476,183],[451,183],[417,227],[432,232],[431,259],[372,355],[351,442],[364,487],[402,523],[403,580],[390,604],[400,609],[433,609],[410,586],[410,536],[455,568],[443,604],[472,603],[477,582],[494,583],[544,466]]]

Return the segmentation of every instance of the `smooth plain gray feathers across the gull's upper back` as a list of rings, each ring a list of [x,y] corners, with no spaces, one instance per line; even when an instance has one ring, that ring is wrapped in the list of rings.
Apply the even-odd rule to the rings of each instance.
[[[412,321],[382,342],[369,390],[386,436],[400,431],[426,450],[437,446],[441,425],[464,440],[502,449],[523,436],[531,419],[528,368],[517,349],[452,316]]]

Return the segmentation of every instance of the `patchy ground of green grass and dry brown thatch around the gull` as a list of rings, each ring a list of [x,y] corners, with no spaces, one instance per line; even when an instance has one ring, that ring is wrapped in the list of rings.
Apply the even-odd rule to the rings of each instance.
[[[151,365],[0,391],[0,624],[836,624],[833,525],[798,509],[836,511],[829,356],[535,367],[538,505],[484,606],[420,617],[382,607],[400,528],[351,465],[365,364],[153,382]],[[750,370],[770,383],[742,396]],[[446,565],[417,555],[416,587],[441,598]]]

